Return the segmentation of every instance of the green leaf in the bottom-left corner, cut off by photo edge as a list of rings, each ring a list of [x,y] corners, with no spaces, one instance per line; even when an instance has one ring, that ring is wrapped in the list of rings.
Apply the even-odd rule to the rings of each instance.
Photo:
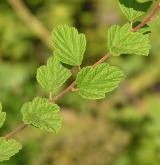
[[[22,149],[22,145],[14,139],[6,140],[0,137],[0,162],[9,160],[10,157],[15,155]]]

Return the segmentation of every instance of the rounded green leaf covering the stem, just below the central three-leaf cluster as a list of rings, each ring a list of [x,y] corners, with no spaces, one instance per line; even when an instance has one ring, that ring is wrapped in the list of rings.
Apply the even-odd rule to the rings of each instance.
[[[23,121],[40,129],[57,133],[61,128],[62,118],[59,107],[47,99],[36,97],[22,106]]]

